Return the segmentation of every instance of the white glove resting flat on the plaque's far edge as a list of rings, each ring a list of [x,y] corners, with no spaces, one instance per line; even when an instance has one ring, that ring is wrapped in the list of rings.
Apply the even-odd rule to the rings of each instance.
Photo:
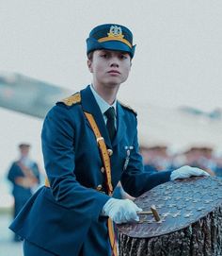
[[[176,169],[173,171],[170,175],[170,179],[185,179],[189,178],[191,176],[210,176],[209,173],[205,172],[202,169],[199,169],[197,167],[191,167],[188,165],[184,165],[179,169]]]

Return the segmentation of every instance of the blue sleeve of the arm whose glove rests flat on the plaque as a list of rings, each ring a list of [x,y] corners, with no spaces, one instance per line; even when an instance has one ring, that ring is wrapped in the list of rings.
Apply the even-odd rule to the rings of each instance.
[[[130,161],[121,176],[121,184],[125,192],[131,196],[140,196],[151,188],[165,183],[170,179],[170,171],[161,171],[149,174],[144,171],[142,157],[139,154],[137,139],[137,120],[135,118],[134,149]]]

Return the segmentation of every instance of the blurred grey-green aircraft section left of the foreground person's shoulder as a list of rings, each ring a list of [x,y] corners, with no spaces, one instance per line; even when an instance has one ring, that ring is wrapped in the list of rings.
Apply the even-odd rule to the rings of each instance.
[[[58,99],[71,94],[68,89],[25,77],[20,74],[0,74],[0,107],[44,118]]]

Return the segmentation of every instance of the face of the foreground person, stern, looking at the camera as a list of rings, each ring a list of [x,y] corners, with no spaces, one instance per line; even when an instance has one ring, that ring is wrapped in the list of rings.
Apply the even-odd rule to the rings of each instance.
[[[129,76],[131,58],[125,52],[96,50],[87,64],[95,85],[113,87],[124,82]]]

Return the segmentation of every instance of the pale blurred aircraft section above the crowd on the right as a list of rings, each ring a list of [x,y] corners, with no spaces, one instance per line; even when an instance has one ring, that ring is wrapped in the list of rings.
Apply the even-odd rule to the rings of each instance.
[[[193,108],[167,109],[150,105],[141,108],[141,104],[138,103],[140,145],[167,145],[175,151],[210,146],[222,152],[221,111],[197,113]]]

